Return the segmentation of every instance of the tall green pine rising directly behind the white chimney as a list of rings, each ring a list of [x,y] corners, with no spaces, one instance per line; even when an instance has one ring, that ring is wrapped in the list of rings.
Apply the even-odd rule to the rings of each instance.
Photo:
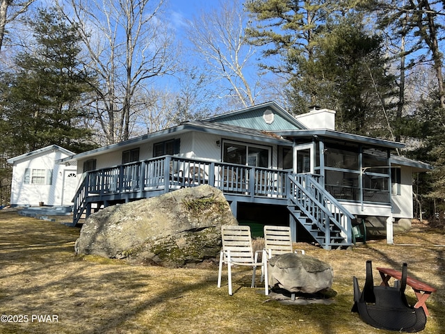
[[[285,91],[293,113],[323,106],[337,111],[339,130],[394,139],[389,104],[394,78],[385,71],[382,40],[366,30],[354,5],[248,1],[256,20],[248,29],[250,42],[263,47],[266,57],[279,56],[264,67],[288,78]]]

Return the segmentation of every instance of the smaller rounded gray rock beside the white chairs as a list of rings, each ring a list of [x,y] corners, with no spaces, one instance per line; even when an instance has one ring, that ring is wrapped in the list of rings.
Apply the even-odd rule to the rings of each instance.
[[[333,278],[329,264],[308,255],[287,253],[268,262],[269,285],[289,292],[315,294],[329,289]]]

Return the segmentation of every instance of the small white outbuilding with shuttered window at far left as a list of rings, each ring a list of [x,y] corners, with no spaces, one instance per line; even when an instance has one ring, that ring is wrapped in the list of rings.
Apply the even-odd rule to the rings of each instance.
[[[78,186],[76,166],[60,165],[55,161],[73,154],[58,145],[49,145],[8,159],[8,164],[13,165],[10,204],[72,206]]]

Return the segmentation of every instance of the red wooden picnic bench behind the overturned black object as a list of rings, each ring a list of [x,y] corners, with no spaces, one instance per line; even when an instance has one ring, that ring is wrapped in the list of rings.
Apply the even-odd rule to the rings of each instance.
[[[382,277],[382,283],[380,283],[382,286],[388,287],[388,281],[391,277],[395,278],[396,280],[402,279],[402,272],[396,269],[378,267],[377,270]],[[428,317],[430,313],[428,312],[428,308],[426,308],[425,302],[432,292],[436,292],[436,289],[434,287],[430,287],[430,285],[426,283],[421,282],[420,280],[411,278],[410,276],[407,276],[406,284],[410,285],[416,294],[417,303],[414,305],[414,308],[423,308],[425,315]]]

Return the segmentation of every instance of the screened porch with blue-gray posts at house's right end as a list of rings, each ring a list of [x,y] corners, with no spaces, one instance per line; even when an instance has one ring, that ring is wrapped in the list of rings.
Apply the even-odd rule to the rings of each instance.
[[[391,186],[401,179],[400,166],[391,167],[391,150],[402,143],[330,129],[277,134],[293,139],[293,173],[317,175],[351,214],[391,215]]]

